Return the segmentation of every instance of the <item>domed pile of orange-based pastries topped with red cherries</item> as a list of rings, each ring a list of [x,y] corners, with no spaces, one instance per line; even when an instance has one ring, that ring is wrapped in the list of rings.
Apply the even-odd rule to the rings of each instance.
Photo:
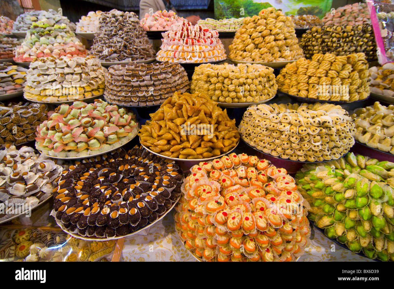
[[[309,204],[268,160],[231,153],[190,169],[175,228],[203,261],[295,261],[308,246]]]

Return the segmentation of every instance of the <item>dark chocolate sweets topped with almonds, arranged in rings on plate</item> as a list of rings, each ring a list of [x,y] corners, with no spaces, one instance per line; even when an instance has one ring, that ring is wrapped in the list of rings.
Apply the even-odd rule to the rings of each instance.
[[[180,196],[182,171],[143,148],[76,162],[55,193],[56,220],[81,236],[122,236],[156,221]]]

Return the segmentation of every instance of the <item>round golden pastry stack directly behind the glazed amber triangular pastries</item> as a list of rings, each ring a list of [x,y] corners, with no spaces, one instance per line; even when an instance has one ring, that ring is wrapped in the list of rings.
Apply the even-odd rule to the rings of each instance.
[[[201,64],[194,70],[190,91],[221,103],[259,102],[274,97],[273,69],[259,64]]]

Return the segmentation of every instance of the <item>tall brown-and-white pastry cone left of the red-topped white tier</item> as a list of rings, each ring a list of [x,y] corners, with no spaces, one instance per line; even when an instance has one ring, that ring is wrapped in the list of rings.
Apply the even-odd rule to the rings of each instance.
[[[134,12],[103,12],[91,54],[102,62],[130,62],[154,58],[152,45]]]

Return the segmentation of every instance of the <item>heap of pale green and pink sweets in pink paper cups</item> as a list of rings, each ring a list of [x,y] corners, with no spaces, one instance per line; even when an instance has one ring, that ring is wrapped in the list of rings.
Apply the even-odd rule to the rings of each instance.
[[[126,108],[96,99],[62,104],[37,127],[35,147],[50,156],[88,157],[134,138],[138,123]]]

